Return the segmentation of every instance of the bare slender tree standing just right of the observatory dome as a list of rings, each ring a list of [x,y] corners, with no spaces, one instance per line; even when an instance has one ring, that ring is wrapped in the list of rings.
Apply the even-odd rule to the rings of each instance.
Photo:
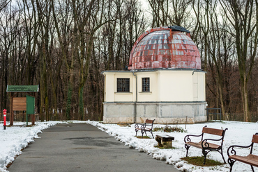
[[[230,65],[228,62],[232,58],[231,50],[233,49],[233,42],[230,41],[232,37],[227,31],[225,20],[220,23],[218,17],[218,13],[214,13],[211,16],[211,34],[209,35],[210,44],[207,45],[209,52],[208,65],[210,65],[212,74],[215,75],[216,96],[218,98],[218,103],[220,103],[222,115],[225,116],[225,94],[229,92],[229,90],[227,90],[228,92],[224,91],[225,87],[229,85],[229,83],[225,82],[228,78],[226,76],[229,75],[228,73],[225,73],[225,70],[227,70],[228,65]],[[213,62],[211,62],[210,57]],[[213,69],[211,65],[214,65],[215,69]]]

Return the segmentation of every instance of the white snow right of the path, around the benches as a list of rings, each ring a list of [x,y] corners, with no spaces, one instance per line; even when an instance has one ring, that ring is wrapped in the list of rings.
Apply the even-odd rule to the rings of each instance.
[[[135,148],[139,152],[144,152],[150,155],[155,160],[164,160],[165,164],[173,165],[179,171],[183,172],[203,172],[203,171],[229,171],[229,164],[223,164],[221,166],[194,166],[188,164],[187,162],[181,160],[181,157],[185,157],[186,150],[184,147],[183,139],[185,135],[200,135],[202,133],[202,128],[208,126],[209,128],[228,128],[226,131],[224,144],[223,144],[223,154],[225,160],[227,161],[227,148],[233,144],[248,146],[251,143],[252,135],[257,132],[258,123],[245,123],[237,121],[222,121],[222,122],[211,122],[211,123],[197,123],[188,125],[188,132],[172,132],[169,135],[173,135],[175,140],[173,141],[173,149],[160,149],[155,148],[157,141],[155,139],[137,139],[135,137],[134,124],[131,127],[121,127],[116,124],[103,124],[96,121],[87,121],[93,126],[98,127],[100,130],[105,130],[109,135],[114,136],[117,140],[120,140],[128,146],[129,148]],[[165,125],[155,124],[157,127],[162,127]],[[173,125],[168,125],[172,126]],[[185,128],[185,125],[177,125],[178,127]],[[237,133],[237,134],[236,134]],[[153,135],[162,134],[162,132],[153,132]],[[209,135],[213,139],[213,135]],[[205,139],[205,138],[204,138]],[[215,139],[215,138],[214,138]],[[258,151],[258,146],[255,144],[254,151]],[[250,151],[250,150],[247,150]],[[258,155],[256,151],[256,155]],[[243,150],[239,150],[239,153],[243,153]],[[255,154],[255,153],[254,153]],[[188,155],[193,156],[202,156],[202,150],[199,148],[190,148]],[[222,157],[220,153],[211,152],[207,156],[208,159],[216,160],[222,162]],[[234,164],[234,169],[238,171],[250,171],[250,166],[243,163]],[[258,170],[257,167],[254,167],[255,170]]]

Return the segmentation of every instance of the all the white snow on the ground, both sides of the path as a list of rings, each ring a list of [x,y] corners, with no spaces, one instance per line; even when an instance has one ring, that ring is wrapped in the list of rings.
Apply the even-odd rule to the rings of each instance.
[[[192,172],[202,172],[202,171],[229,171],[229,164],[223,164],[221,166],[194,166],[192,164],[187,164],[185,161],[181,160],[181,157],[185,157],[185,147],[184,147],[184,137],[185,135],[200,135],[202,128],[208,126],[208,128],[228,128],[225,134],[225,141],[223,147],[223,154],[225,160],[227,161],[227,148],[231,145],[242,145],[248,146],[251,143],[252,135],[258,132],[258,123],[243,123],[236,121],[222,121],[222,122],[207,122],[207,123],[197,123],[188,124],[186,130],[188,132],[171,132],[168,135],[175,137],[173,141],[174,149],[159,149],[154,146],[157,145],[155,139],[137,139],[135,137],[134,124],[131,127],[121,127],[116,124],[103,124],[96,121],[68,121],[73,123],[89,123],[93,126],[98,127],[100,130],[107,132],[107,134],[115,137],[117,140],[123,142],[125,146],[129,148],[136,148],[139,152],[147,153],[153,159],[165,160],[164,164],[170,164],[176,167],[179,171],[192,171]],[[56,125],[56,123],[67,123],[67,121],[50,121],[50,122],[38,122],[36,126],[25,127],[25,123],[15,122],[13,127],[7,127],[3,130],[3,123],[0,123],[0,171],[7,171],[6,166],[10,162],[15,160],[17,155],[22,153],[22,149],[25,148],[28,143],[33,141],[33,138],[38,138],[38,133],[42,132],[45,128]],[[8,123],[7,123],[8,125]],[[155,124],[155,127],[162,127],[165,125]],[[175,125],[169,125],[174,127]],[[177,125],[185,129],[185,125]],[[149,136],[150,133],[147,133]],[[153,132],[153,135],[162,134],[162,132]],[[167,134],[167,133],[166,133]],[[139,134],[138,134],[139,135]],[[214,138],[209,135],[208,138]],[[246,155],[250,153],[250,149],[241,148],[236,151],[241,155]],[[255,145],[253,154],[258,155],[258,145]],[[189,149],[189,156],[202,156],[202,151],[199,148],[191,147]],[[222,161],[220,153],[212,151],[207,155],[208,159]],[[254,167],[255,171],[258,170]],[[241,162],[236,162],[233,166],[233,171],[251,171],[250,165],[243,164]]]

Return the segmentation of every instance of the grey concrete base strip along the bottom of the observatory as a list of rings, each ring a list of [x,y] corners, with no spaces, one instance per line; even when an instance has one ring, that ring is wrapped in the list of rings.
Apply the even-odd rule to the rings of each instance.
[[[206,102],[103,103],[104,123],[198,123],[206,121]]]

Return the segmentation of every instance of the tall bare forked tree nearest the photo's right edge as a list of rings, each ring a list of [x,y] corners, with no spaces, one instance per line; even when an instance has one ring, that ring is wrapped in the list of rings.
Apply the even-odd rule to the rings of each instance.
[[[245,121],[250,121],[248,105],[248,80],[255,65],[258,37],[257,0],[220,0],[222,9],[232,26],[231,34],[236,41],[239,74],[241,78],[241,98]]]

